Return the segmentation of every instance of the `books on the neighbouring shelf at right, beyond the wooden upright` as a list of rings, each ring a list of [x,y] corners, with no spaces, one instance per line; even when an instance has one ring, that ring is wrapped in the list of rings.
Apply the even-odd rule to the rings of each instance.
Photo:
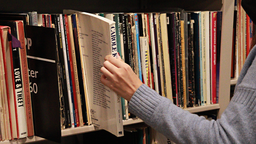
[[[235,2],[231,78],[238,78],[252,45],[255,24],[245,13],[241,0]]]

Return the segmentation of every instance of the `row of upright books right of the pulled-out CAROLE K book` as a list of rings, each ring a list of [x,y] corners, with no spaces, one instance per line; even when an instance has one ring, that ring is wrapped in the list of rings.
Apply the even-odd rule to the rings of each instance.
[[[151,89],[181,108],[218,103],[222,12],[99,15],[119,23],[117,51]]]

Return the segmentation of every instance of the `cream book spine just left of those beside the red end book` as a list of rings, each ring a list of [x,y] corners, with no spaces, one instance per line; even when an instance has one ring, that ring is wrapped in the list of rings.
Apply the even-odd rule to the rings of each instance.
[[[205,66],[206,66],[206,105],[211,105],[211,59],[210,59],[210,12],[205,12]],[[205,99],[206,98],[206,99]]]

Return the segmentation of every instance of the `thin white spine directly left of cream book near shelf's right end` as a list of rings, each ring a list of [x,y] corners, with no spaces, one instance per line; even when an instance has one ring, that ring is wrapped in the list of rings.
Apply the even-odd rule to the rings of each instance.
[[[206,61],[205,61],[205,43],[206,43],[206,39],[205,39],[205,12],[201,12],[201,28],[202,28],[202,32],[201,32],[201,37],[202,37],[202,67],[203,67],[203,98],[201,97],[201,106],[205,105],[206,102]],[[202,90],[201,90],[202,91]]]

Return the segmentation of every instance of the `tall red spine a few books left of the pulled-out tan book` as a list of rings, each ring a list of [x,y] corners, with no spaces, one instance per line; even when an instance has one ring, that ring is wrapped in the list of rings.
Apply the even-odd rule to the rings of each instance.
[[[68,55],[69,55],[69,62],[70,62],[70,71],[71,71],[71,81],[73,86],[73,96],[74,96],[74,104],[75,104],[75,114],[76,114],[76,126],[79,126],[79,117],[78,117],[78,109],[77,109],[77,98],[76,98],[76,84],[75,84],[75,77],[74,77],[74,70],[73,70],[73,59],[71,53],[71,44],[70,44],[70,37],[68,31],[68,20],[67,14],[65,14],[65,23],[66,23],[66,31],[67,31],[67,39],[68,39]]]

